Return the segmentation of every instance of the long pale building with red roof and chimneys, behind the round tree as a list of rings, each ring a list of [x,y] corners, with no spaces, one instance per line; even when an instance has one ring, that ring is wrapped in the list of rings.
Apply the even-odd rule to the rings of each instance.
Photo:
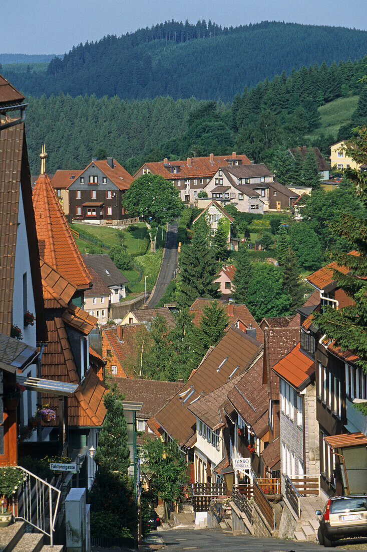
[[[214,156],[211,153],[208,157],[187,157],[186,161],[168,161],[165,158],[163,162],[144,163],[133,179],[143,174],[160,174],[180,190],[182,201],[195,204],[198,193],[208,184],[218,168],[250,163],[246,155],[237,155],[235,151],[229,156]]]

